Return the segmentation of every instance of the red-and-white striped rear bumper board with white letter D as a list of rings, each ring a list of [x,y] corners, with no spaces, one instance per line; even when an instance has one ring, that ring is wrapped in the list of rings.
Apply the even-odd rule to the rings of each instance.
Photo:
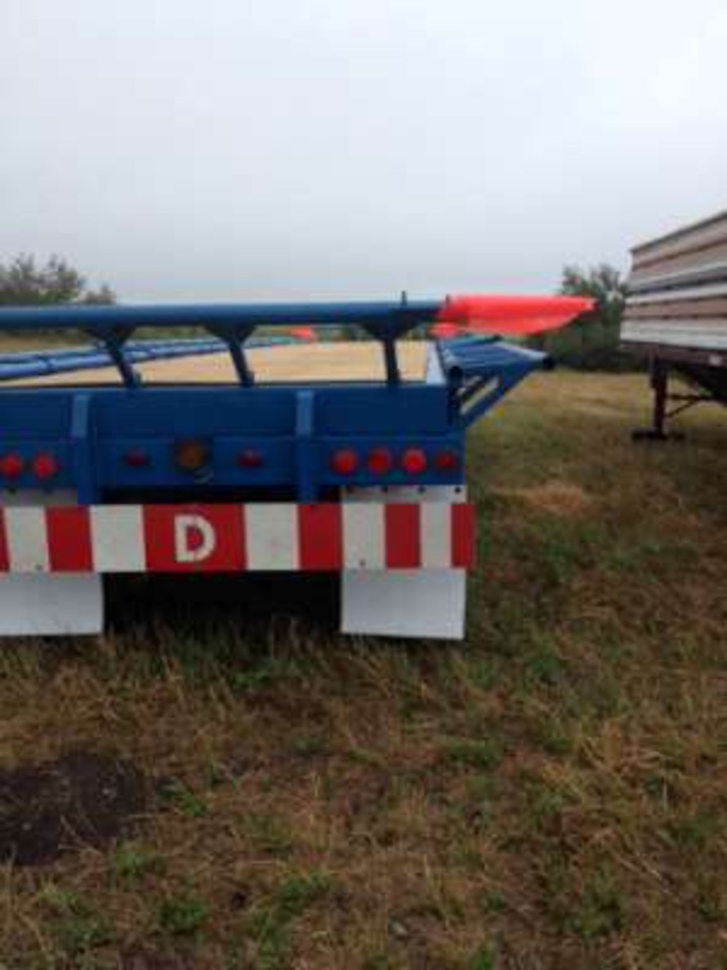
[[[462,569],[466,502],[0,507],[0,574]]]

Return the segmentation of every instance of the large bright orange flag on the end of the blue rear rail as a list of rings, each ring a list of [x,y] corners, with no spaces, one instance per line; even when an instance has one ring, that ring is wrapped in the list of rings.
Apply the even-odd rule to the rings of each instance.
[[[588,297],[447,297],[437,326],[462,326],[489,334],[539,334],[557,330],[595,306]]]

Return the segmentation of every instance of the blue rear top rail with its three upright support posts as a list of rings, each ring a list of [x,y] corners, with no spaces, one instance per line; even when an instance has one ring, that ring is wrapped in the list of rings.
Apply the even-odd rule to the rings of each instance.
[[[361,327],[384,350],[387,381],[396,384],[399,370],[395,341],[420,324],[434,322],[441,300],[376,303],[213,304],[201,306],[17,307],[0,310],[0,330],[81,331],[101,340],[127,387],[139,386],[129,356],[129,340],[139,327],[201,327],[222,340],[232,357],[239,382],[253,383],[244,349],[258,327]]]

